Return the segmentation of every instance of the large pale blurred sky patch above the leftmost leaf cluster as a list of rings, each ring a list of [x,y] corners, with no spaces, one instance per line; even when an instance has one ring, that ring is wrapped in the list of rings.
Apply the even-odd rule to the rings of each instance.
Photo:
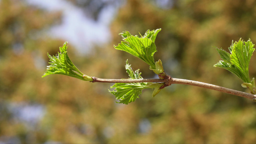
[[[111,40],[110,22],[119,6],[108,6],[100,12],[97,21],[86,16],[82,8],[66,0],[26,0],[28,4],[43,8],[49,12],[61,11],[62,23],[52,26],[49,35],[72,42],[79,53],[88,53],[95,44],[104,44]],[[124,1],[123,1],[124,2]],[[122,3],[122,2],[120,2]]]

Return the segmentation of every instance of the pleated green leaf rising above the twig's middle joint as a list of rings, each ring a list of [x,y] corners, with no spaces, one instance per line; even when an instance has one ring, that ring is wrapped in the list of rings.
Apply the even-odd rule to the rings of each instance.
[[[128,52],[146,62],[150,68],[156,69],[154,62],[154,53],[157,51],[155,40],[160,30],[147,30],[144,36],[140,34],[140,37],[132,36],[128,31],[122,32],[120,35],[123,37],[123,41],[114,48]]]

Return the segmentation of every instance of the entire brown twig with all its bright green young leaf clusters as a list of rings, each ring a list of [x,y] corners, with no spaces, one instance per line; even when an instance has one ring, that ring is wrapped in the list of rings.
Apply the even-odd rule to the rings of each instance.
[[[78,70],[76,66],[72,63],[70,58],[67,54],[67,47],[65,42],[62,47],[60,47],[60,52],[58,52],[58,55],[56,56],[50,56],[48,54],[48,57],[50,58],[50,66],[47,66],[46,72],[44,73],[44,76],[50,75],[50,74],[64,74],[67,76],[71,76],[74,78],[78,78],[80,80],[90,81],[90,82],[116,82],[113,86],[110,88],[114,88],[114,90],[109,90],[111,94],[113,94],[117,100],[119,100],[118,103],[128,104],[130,102],[134,102],[137,98],[139,98],[140,94],[142,93],[143,89],[146,88],[154,88],[154,92],[152,93],[152,96],[155,96],[158,94],[158,92],[166,87],[172,84],[174,78],[171,78],[164,72],[164,68],[162,66],[162,61],[158,60],[157,62],[154,62],[154,53],[156,52],[156,45],[155,40],[158,32],[161,29],[157,30],[147,30],[142,36],[140,34],[140,37],[135,35],[132,36],[130,32],[125,31],[120,33],[123,37],[123,41],[118,44],[118,46],[114,46],[117,50],[123,50],[125,52],[128,52],[144,62],[146,62],[150,66],[150,70],[158,74],[158,77],[162,79],[161,81],[148,81],[143,80],[142,82],[142,76],[139,70],[136,70],[135,72],[132,70],[131,65],[128,64],[128,61],[126,61],[126,72],[129,75],[129,79],[132,80],[113,80],[113,79],[100,79],[95,77],[90,77]],[[249,39],[247,42],[244,42],[243,40],[239,40],[238,42],[233,43],[228,48],[230,53],[226,52],[222,49],[217,49],[218,53],[220,54],[220,57],[222,60],[220,60],[217,64],[215,64],[215,67],[224,68],[236,76],[238,76],[241,80],[243,80],[244,83],[242,83],[243,87],[249,88],[252,94],[256,94],[256,86],[254,78],[250,80],[249,77],[249,63],[250,58],[252,56],[252,53],[254,52],[254,44],[252,44],[251,40]],[[134,82],[134,80],[138,80]],[[168,82],[166,82],[168,80]],[[169,82],[169,80],[172,80]],[[127,82],[127,83],[124,83]],[[199,83],[199,82],[198,82]],[[174,84],[190,84],[193,86],[202,86],[202,84],[195,84],[194,82],[188,82],[188,80],[176,80],[176,83]],[[204,85],[204,84],[203,84]],[[212,85],[209,86],[212,89]],[[208,87],[206,87],[208,88]],[[215,90],[215,89],[214,89]],[[219,90],[223,91],[223,89]],[[228,91],[228,92],[227,92]],[[225,92],[237,94],[237,92],[230,92],[230,90],[225,88]],[[256,101],[255,96],[248,96],[244,95],[243,93],[239,94],[239,96],[243,96],[246,98],[252,98]]]

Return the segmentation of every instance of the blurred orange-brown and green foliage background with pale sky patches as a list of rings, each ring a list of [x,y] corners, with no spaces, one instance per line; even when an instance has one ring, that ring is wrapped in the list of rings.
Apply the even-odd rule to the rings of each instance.
[[[0,143],[255,143],[256,103],[193,86],[144,90],[117,104],[112,84],[63,75],[41,78],[68,41],[74,64],[89,76],[128,78],[125,60],[143,78],[156,75],[115,50],[120,32],[156,38],[167,74],[248,92],[214,68],[216,47],[256,43],[255,0],[0,0]],[[250,76],[256,77],[256,56]]]

